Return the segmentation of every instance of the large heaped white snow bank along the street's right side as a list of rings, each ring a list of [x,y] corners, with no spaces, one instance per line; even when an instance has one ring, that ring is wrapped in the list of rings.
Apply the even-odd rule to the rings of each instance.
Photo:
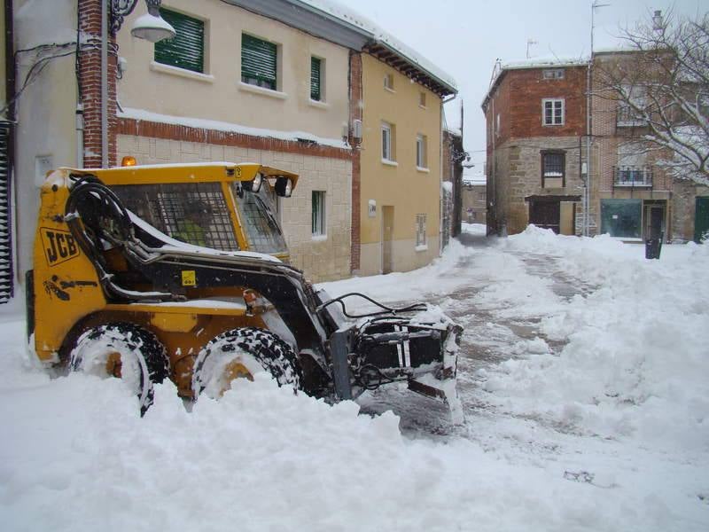
[[[486,389],[510,411],[574,430],[709,449],[709,284],[702,281],[709,246],[690,244],[682,254],[665,246],[659,261],[648,261],[643,246],[534,227],[506,245],[557,254],[562,272],[601,287],[566,304],[549,301],[541,332],[568,343],[558,354],[527,348],[526,358],[483,375]],[[499,295],[481,297],[489,304]]]

